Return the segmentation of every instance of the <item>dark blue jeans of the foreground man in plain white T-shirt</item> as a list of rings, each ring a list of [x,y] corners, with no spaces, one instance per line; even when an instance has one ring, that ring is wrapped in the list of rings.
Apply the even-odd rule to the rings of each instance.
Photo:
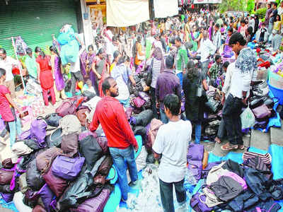
[[[186,201],[186,192],[184,188],[184,179],[180,182],[163,182],[159,179],[160,196],[165,212],[174,212],[173,204],[173,184],[175,187],[176,197],[179,204],[184,204]]]

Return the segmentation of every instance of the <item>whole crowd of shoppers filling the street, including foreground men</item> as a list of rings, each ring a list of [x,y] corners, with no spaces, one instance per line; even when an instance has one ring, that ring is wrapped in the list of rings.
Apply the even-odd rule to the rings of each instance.
[[[154,117],[161,119],[153,146],[155,158],[161,157],[158,176],[161,200],[165,211],[173,211],[173,187],[179,203],[185,201],[183,182],[187,163],[187,145],[192,129],[195,143],[200,143],[204,120],[206,92],[212,86],[221,90],[222,119],[215,138],[221,143],[227,135],[225,151],[243,149],[240,114],[247,105],[250,84],[257,72],[256,56],[248,42],[272,45],[277,51],[282,40],[283,3],[268,4],[265,22],[257,15],[233,17],[202,10],[185,11],[178,17],[152,20],[113,35],[109,28],[93,27],[96,37],[87,48],[81,41],[79,56],[71,63],[71,94],[76,95],[76,83],[86,83],[88,90],[103,98],[97,105],[89,129],[101,124],[108,139],[110,154],[117,165],[122,199],[127,201],[127,177],[124,159],[129,165],[133,184],[137,182],[137,167],[133,160],[137,141],[125,116],[130,107],[129,85],[136,86],[134,75],[148,70],[149,91]],[[255,40],[253,37],[255,36]],[[25,69],[30,78],[40,83],[45,105],[48,93],[52,105],[67,98],[64,69],[59,49],[50,47],[50,55],[40,49],[26,49]],[[233,58],[233,62],[224,58]],[[10,128],[11,146],[21,134],[21,122],[14,110],[21,108],[16,98],[12,66],[18,62],[0,48],[0,114]],[[185,100],[182,109],[181,100]],[[124,108],[123,108],[123,107]],[[226,133],[225,133],[226,132]],[[176,142],[178,141],[178,142]],[[133,148],[132,148],[133,147]]]

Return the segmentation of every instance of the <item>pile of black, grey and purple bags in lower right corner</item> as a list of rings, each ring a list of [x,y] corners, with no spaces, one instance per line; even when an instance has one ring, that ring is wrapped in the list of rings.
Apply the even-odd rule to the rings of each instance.
[[[233,160],[207,164],[204,147],[191,144],[187,153],[188,169],[195,179],[206,179],[190,200],[200,211],[278,211],[283,199],[283,179],[274,180],[271,155],[243,153],[243,163]]]

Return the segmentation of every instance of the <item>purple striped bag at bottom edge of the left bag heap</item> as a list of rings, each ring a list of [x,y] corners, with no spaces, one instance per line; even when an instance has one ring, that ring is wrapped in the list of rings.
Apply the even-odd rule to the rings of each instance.
[[[109,189],[103,189],[102,192],[91,199],[87,199],[78,208],[70,208],[71,212],[103,212],[103,208],[110,196]]]

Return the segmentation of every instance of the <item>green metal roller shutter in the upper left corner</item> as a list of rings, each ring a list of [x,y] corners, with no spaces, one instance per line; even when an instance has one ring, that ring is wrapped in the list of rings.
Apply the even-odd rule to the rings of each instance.
[[[75,0],[6,0],[0,1],[0,46],[8,55],[13,47],[8,37],[21,35],[28,47],[47,49],[64,24],[77,32]]]

